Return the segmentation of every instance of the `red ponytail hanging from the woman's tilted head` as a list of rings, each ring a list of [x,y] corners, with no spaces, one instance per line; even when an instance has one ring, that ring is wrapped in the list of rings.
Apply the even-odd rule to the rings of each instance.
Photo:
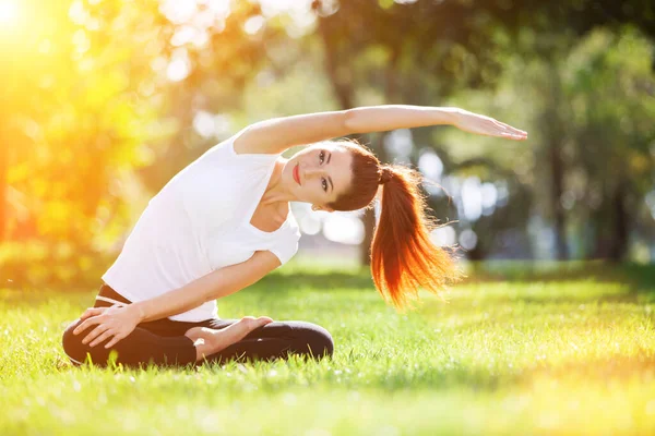
[[[418,296],[419,287],[439,295],[464,275],[451,254],[430,241],[438,228],[425,214],[419,172],[402,166],[382,166],[380,220],[371,244],[371,272],[376,288],[397,308]]]

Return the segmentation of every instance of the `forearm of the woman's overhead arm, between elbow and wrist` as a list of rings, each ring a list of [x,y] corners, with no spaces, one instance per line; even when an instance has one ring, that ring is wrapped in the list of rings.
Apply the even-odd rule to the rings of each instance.
[[[452,124],[458,108],[430,106],[382,105],[349,109],[346,126],[352,133],[382,132],[437,124]]]

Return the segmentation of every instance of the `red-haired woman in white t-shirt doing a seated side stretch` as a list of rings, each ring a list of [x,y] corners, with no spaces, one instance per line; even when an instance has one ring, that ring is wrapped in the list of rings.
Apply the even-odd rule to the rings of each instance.
[[[289,202],[313,210],[370,206],[382,184],[371,271],[388,302],[404,306],[419,287],[434,293],[460,279],[450,255],[429,240],[420,174],[381,165],[365,147],[327,141],[356,133],[452,124],[509,140],[527,133],[457,108],[361,107],[254,123],[212,147],[153,197],[115,264],[95,307],[63,334],[74,363],[186,365],[227,359],[321,358],[330,334],[303,322],[262,316],[221,319],[216,299],[285,264],[300,233]],[[312,144],[285,159],[289,147]]]

